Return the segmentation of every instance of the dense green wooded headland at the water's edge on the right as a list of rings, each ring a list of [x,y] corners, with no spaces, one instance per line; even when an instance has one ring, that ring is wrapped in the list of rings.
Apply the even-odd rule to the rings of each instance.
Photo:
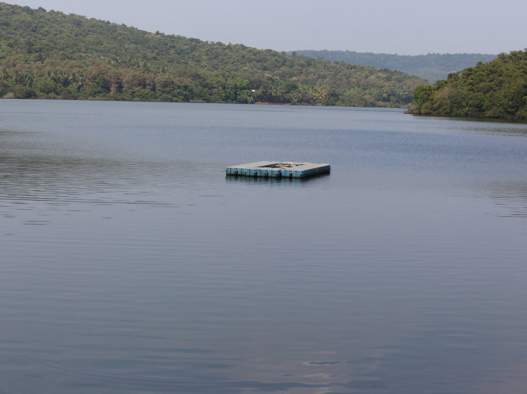
[[[436,116],[527,119],[527,50],[501,53],[448,75],[433,86],[419,86],[409,113]]]

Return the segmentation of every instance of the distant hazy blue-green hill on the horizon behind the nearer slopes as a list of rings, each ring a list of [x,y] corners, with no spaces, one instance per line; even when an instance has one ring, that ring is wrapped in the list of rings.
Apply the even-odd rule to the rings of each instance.
[[[296,51],[296,53],[315,58],[323,57],[330,61],[389,68],[390,70],[417,75],[429,82],[444,80],[452,72],[475,66],[477,62],[490,62],[496,58],[496,55],[481,53],[429,53],[417,56],[352,51]]]

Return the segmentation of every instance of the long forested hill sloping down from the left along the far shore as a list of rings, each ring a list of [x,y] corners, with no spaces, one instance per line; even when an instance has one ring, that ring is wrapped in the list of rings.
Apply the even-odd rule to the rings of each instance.
[[[0,3],[0,97],[407,106],[420,78]]]

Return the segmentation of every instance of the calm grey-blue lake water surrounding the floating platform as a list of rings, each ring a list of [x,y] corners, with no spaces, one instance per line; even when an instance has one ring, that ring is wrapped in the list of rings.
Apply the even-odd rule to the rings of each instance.
[[[226,178],[262,160],[308,180]],[[527,124],[0,101],[0,393],[516,393]]]

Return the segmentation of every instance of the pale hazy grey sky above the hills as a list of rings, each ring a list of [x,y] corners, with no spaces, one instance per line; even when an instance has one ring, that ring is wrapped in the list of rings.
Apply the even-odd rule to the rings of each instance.
[[[4,0],[259,49],[419,55],[527,47],[525,0]]]

